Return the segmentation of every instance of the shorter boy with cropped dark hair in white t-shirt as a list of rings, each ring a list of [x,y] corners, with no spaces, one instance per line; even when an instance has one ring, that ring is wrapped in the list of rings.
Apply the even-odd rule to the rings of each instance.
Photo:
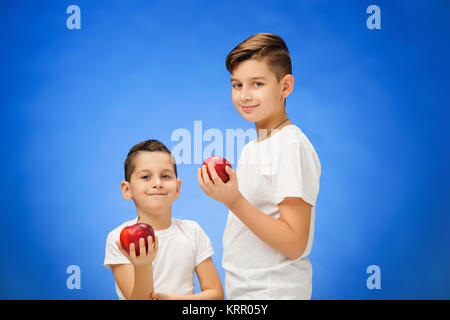
[[[111,231],[106,240],[104,265],[113,272],[119,299],[223,299],[208,236],[194,221],[172,219],[172,204],[180,196],[175,161],[157,140],[131,148],[125,160],[125,181],[120,188],[126,200],[133,199],[137,218]],[[144,222],[155,230],[155,243],[148,237],[134,245],[130,254],[121,246],[120,232],[126,226]],[[194,270],[201,293],[194,294]]]

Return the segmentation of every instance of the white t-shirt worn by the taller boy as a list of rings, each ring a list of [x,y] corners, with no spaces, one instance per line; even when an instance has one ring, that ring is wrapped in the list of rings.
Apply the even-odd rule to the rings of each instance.
[[[312,267],[307,255],[314,237],[314,217],[321,165],[305,134],[295,125],[268,139],[249,142],[236,169],[239,191],[256,208],[279,218],[285,197],[312,205],[304,254],[289,260],[260,240],[229,211],[223,235],[223,268],[227,299],[310,299]]]

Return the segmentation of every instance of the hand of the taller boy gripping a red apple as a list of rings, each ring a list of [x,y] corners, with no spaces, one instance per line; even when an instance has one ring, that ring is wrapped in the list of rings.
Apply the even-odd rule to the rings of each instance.
[[[227,207],[230,207],[233,201],[241,196],[238,188],[236,171],[229,166],[225,166],[225,171],[230,177],[230,180],[228,180],[227,183],[224,183],[217,174],[216,169],[214,169],[213,164],[210,164],[208,168],[212,179],[209,178],[206,165],[197,169],[197,178],[200,187],[210,198],[220,201]]]

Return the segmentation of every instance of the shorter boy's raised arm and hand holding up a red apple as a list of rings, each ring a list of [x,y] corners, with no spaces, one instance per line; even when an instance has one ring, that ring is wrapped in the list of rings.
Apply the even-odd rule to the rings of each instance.
[[[114,278],[119,285],[120,291],[129,300],[151,300],[149,292],[153,288],[153,265],[157,250],[158,238],[155,237],[153,247],[152,237],[148,238],[148,252],[145,250],[145,243],[140,239],[139,246],[141,255],[136,257],[134,244],[130,244],[130,254],[121,246],[120,241],[116,242],[119,250],[130,260],[132,265],[116,265],[112,267]]]

